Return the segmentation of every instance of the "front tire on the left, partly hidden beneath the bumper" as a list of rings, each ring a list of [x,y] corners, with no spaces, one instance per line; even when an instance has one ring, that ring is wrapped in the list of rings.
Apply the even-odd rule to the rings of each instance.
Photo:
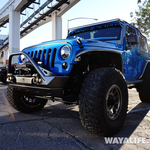
[[[47,103],[45,99],[35,98],[33,95],[18,91],[10,85],[7,88],[7,98],[14,109],[24,113],[37,112]]]

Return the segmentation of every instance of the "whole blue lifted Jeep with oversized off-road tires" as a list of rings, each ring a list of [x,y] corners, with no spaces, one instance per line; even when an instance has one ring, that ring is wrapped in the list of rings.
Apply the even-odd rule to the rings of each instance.
[[[110,136],[125,121],[127,88],[136,88],[141,101],[150,102],[149,74],[146,38],[115,19],[69,29],[66,39],[11,54],[7,96],[25,113],[41,110],[47,100],[79,104],[83,126]]]

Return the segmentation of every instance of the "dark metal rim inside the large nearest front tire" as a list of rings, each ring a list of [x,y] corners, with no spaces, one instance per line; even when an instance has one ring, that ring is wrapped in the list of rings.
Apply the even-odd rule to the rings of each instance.
[[[114,120],[120,114],[122,107],[122,93],[118,85],[112,85],[106,95],[107,116]]]

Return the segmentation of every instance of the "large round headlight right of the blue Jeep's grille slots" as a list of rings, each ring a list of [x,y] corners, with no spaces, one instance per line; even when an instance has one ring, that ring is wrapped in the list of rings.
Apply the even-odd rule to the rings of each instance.
[[[63,46],[60,51],[61,57],[63,59],[67,59],[70,56],[70,52],[71,52],[70,46],[68,45]]]

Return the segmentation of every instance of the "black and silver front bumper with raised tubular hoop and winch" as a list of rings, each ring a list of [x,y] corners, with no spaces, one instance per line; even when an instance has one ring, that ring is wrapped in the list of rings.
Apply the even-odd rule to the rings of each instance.
[[[33,65],[37,73],[30,77],[19,76],[14,74],[11,67],[11,59],[15,55],[25,55],[30,63]],[[46,73],[45,73],[46,71]],[[9,86],[17,90],[22,90],[30,94],[37,96],[52,96],[52,97],[62,97],[63,87],[68,81],[68,76],[57,76],[52,72],[39,67],[35,61],[25,52],[13,53],[9,57],[7,82]]]

